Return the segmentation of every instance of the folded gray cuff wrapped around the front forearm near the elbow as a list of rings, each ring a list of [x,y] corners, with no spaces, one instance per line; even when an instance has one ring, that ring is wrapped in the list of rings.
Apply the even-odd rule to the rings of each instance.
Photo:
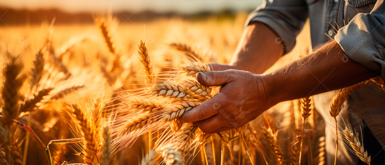
[[[384,47],[373,37],[368,15],[357,14],[334,38],[349,58],[385,77]]]

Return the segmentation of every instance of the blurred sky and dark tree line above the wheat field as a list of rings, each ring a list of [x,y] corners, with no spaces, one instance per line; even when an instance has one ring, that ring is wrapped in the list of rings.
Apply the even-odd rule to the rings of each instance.
[[[2,25],[41,23],[92,23],[92,14],[112,11],[121,20],[151,21],[169,17],[234,15],[254,10],[261,0],[5,0],[0,2]],[[130,23],[130,22],[128,22]]]

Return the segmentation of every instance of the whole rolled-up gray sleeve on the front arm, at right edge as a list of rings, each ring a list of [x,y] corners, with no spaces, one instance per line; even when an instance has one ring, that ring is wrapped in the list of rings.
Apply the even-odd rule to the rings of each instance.
[[[338,30],[335,40],[355,62],[381,72],[385,78],[385,4],[378,0],[372,12],[357,14]]]

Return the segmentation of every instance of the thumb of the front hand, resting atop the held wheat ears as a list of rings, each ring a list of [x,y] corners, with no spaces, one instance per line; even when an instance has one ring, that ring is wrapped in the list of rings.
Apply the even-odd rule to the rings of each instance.
[[[221,86],[235,80],[231,70],[198,72],[196,79],[206,87]]]

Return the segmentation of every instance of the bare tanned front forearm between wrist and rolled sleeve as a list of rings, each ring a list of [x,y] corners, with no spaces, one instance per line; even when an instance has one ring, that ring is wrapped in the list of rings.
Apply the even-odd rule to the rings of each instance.
[[[380,75],[349,59],[335,41],[262,76],[274,103],[348,87]]]

